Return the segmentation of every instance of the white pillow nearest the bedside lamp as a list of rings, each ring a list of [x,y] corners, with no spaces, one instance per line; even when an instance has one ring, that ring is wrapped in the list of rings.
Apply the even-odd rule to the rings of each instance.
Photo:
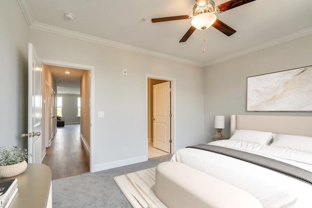
[[[235,130],[230,139],[268,145],[272,140],[272,133],[253,130]]]

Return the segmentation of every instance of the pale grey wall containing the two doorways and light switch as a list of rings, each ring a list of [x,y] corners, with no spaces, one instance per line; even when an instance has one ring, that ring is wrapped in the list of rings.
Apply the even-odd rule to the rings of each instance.
[[[90,142],[95,170],[147,159],[146,75],[176,79],[176,149],[204,142],[201,67],[36,29],[29,31],[29,41],[41,58],[95,67],[94,141]],[[122,75],[123,69],[128,70],[127,76]],[[105,117],[99,118],[98,111],[104,111]],[[128,147],[127,153],[123,147]]]

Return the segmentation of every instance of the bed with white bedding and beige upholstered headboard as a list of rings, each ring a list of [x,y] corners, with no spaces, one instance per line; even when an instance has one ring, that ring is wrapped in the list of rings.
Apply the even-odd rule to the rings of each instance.
[[[250,152],[299,167],[308,174],[312,172],[310,116],[232,115],[231,138],[209,144]],[[268,168],[195,148],[178,150],[171,160],[251,193],[264,208],[312,207],[311,184]]]

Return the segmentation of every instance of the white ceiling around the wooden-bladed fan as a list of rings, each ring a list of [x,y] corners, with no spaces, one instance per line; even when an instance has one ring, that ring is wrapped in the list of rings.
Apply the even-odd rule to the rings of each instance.
[[[158,23],[151,19],[190,15],[195,0],[18,1],[32,28],[198,66],[312,33],[312,0],[252,1],[217,14],[237,31],[234,35],[227,37],[210,27],[196,30],[184,43],[179,40],[190,28],[191,19]],[[215,0],[215,5],[226,1]],[[75,19],[65,19],[65,12],[73,13]]]

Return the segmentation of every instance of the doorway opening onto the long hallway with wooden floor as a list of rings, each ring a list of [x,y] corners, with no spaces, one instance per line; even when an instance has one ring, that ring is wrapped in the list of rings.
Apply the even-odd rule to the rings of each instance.
[[[53,61],[52,61],[53,62]],[[91,120],[92,120],[92,75],[91,69],[59,66],[44,63],[48,68],[51,85],[50,130],[55,133],[46,150],[42,163],[52,170],[52,178],[58,179],[91,171]],[[65,74],[66,72],[66,74]],[[59,75],[61,74],[61,75]],[[75,80],[76,79],[76,80]],[[75,86],[74,82],[77,82]],[[63,83],[63,84],[61,84]],[[76,83],[77,84],[77,83]],[[55,85],[54,89],[52,86]],[[48,90],[47,90],[48,91]],[[59,114],[59,97],[63,103]],[[58,116],[59,119],[59,116]],[[63,124],[60,125],[59,124]],[[48,126],[48,125],[47,125]],[[57,127],[58,126],[58,127]]]

